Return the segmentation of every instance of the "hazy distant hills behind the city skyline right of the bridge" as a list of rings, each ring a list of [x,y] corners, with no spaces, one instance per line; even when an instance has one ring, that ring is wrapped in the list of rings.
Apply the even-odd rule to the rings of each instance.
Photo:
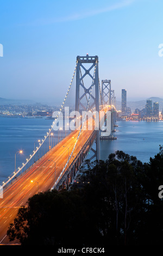
[[[152,100],[152,103],[159,102],[159,111],[162,111],[163,99],[161,99],[159,97],[149,97],[147,100]],[[145,108],[147,100],[127,101],[127,107],[130,107],[131,111],[134,111],[136,108],[139,108],[141,110],[141,109]],[[117,107],[117,109],[121,110],[121,101],[116,101],[116,107]]]

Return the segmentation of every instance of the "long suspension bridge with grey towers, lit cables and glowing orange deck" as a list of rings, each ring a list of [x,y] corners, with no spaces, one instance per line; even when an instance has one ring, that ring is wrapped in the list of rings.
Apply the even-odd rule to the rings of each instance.
[[[100,139],[114,138],[116,97],[110,80],[100,83],[98,56],[77,56],[64,101],[53,118],[38,147],[2,183],[1,244],[9,242],[9,223],[29,197],[53,188],[69,188],[86,159],[100,160]]]

